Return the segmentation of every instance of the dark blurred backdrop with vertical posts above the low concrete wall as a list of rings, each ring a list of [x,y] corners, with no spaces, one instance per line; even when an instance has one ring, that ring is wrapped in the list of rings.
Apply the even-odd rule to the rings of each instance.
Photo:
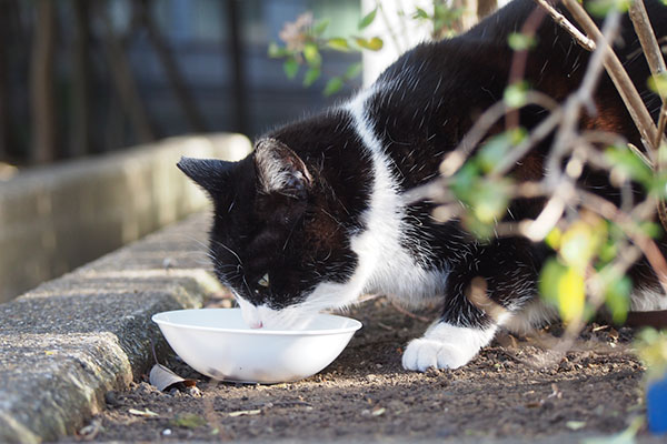
[[[268,43],[308,10],[330,19],[327,33],[349,33],[360,8],[359,0],[0,0],[0,162],[49,163],[191,132],[255,137],[302,117],[335,99],[288,80]],[[331,52],[322,71],[359,58]]]

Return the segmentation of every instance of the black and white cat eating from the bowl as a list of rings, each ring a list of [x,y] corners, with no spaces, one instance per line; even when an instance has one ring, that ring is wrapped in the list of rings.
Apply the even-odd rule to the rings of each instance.
[[[646,6],[664,39],[667,7],[656,0]],[[354,304],[364,293],[385,293],[408,306],[437,301],[441,317],[402,357],[406,369],[425,371],[461,366],[499,326],[552,314],[534,310],[548,254],[544,245],[522,238],[478,242],[456,220],[436,223],[432,205],[406,204],[402,196],[434,179],[444,154],[502,98],[512,58],[507,38],[534,8],[530,0],[515,0],[460,37],[416,47],[349,102],[269,133],[240,162],[179,162],[212,199],[216,274],[251,326],[296,325],[309,314]],[[589,53],[548,17],[537,39],[526,79],[563,101],[579,85]],[[660,101],[646,88],[649,71],[638,48],[626,17],[616,49],[655,118]],[[585,117],[583,128],[614,131],[640,145],[608,78],[595,102],[597,114]],[[530,129],[545,115],[524,109],[521,125]],[[512,174],[540,178],[548,149],[546,141]],[[581,182],[616,199],[617,190],[595,172]],[[541,204],[515,203],[508,218],[534,218]],[[660,294],[645,262],[631,276],[636,289]],[[504,309],[500,315],[490,316],[468,297],[479,278]]]

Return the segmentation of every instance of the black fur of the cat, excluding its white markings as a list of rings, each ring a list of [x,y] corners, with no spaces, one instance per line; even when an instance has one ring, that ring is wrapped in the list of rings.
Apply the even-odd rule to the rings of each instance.
[[[667,36],[667,8],[656,0],[646,1],[646,7],[657,36]],[[381,74],[367,113],[401,190],[434,179],[444,154],[460,142],[481,112],[502,98],[512,59],[507,38],[521,29],[535,8],[530,0],[516,0],[460,37],[418,46]],[[655,118],[659,99],[646,87],[648,67],[628,18],[623,22],[617,53]],[[563,101],[579,87],[589,53],[549,17],[542,20],[537,41],[528,57],[526,80]],[[641,145],[606,75],[595,104],[597,114],[586,115],[581,128],[614,131]],[[544,110],[529,107],[521,111],[521,125],[530,129],[545,115]],[[550,141],[537,147],[512,174],[540,178]],[[350,240],[366,229],[362,214],[370,205],[374,171],[345,109],[287,125],[259,143],[268,143],[268,149],[271,143],[276,150],[289,148],[283,163],[298,174],[287,192],[262,190],[258,178],[267,171],[257,162],[257,153],[233,167],[190,160],[179,167],[215,203],[210,250],[218,278],[256,305],[281,309],[301,302],[320,282],[350,278],[358,260]],[[617,199],[618,191],[594,172],[586,172],[583,184]],[[511,214],[517,220],[532,218],[541,205],[540,201],[518,202]],[[525,239],[480,243],[458,221],[436,223],[431,210],[426,203],[408,208],[401,229],[404,248],[416,264],[449,271],[442,321],[467,327],[492,322],[466,296],[476,276],[486,280],[494,301],[511,311],[520,310],[537,293],[546,254],[542,245]],[[258,285],[265,273],[270,278],[268,287]],[[657,289],[656,276],[645,263],[631,274],[638,284]]]

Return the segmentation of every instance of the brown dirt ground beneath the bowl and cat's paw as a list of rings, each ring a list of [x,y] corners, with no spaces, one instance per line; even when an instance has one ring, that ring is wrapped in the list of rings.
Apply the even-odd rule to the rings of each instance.
[[[162,393],[140,382],[111,392],[107,410],[68,440],[578,442],[645,413],[644,369],[628,329],[594,324],[559,360],[545,345],[558,326],[531,337],[504,333],[465,367],[422,374],[404,371],[400,356],[427,322],[384,297],[349,315],[364,329],[312,377],[216,383],[171,355],[167,366],[199,380],[197,389]],[[654,442],[644,430],[639,436]]]

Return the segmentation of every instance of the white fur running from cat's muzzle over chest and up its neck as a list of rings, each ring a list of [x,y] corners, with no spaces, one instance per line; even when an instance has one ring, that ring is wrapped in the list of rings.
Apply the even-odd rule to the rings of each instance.
[[[362,214],[367,229],[350,241],[358,255],[356,270],[346,283],[321,282],[302,303],[280,311],[253,306],[239,299],[247,322],[265,327],[295,327],[307,322],[311,314],[351,305],[361,294],[370,292],[391,294],[398,302],[412,306],[444,294],[447,274],[424,270],[401,245],[405,203],[391,175],[390,159],[374,134],[366,110],[366,102],[375,91],[362,91],[344,107],[352,117],[374,174],[369,209]],[[273,173],[280,175],[279,171]]]

